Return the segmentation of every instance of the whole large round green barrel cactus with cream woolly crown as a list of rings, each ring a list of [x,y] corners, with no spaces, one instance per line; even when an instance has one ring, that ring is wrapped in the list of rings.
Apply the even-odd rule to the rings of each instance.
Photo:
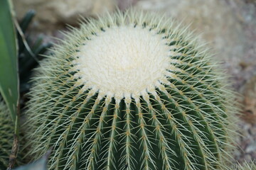
[[[50,169],[218,169],[232,92],[206,47],[166,16],[117,12],[65,33],[36,69],[29,154]],[[224,77],[224,78],[223,78]]]

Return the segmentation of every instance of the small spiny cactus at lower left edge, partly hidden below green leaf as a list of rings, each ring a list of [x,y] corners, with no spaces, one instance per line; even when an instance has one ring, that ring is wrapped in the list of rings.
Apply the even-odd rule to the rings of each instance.
[[[14,123],[12,123],[7,106],[0,97],[0,170],[9,164],[9,155],[14,141]]]

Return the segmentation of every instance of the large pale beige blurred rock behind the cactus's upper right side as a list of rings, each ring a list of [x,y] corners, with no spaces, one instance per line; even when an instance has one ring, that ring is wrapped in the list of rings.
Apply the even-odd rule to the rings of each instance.
[[[167,13],[210,42],[221,61],[238,60],[246,47],[245,33],[238,18],[223,0],[140,0],[136,6],[146,11]]]

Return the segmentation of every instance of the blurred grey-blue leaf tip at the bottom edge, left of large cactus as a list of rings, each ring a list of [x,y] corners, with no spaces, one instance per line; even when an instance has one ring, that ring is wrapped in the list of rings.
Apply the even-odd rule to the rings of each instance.
[[[38,161],[33,162],[32,164],[27,164],[25,166],[18,167],[14,170],[46,170],[47,160],[49,155],[50,155],[50,151],[46,153],[46,155],[43,156]]]

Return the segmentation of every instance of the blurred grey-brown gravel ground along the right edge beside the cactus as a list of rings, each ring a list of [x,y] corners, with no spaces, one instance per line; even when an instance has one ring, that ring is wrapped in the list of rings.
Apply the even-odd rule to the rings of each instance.
[[[238,151],[235,160],[240,163],[256,159],[256,1],[231,1],[227,4],[237,13],[247,38],[247,49],[238,64],[230,65],[228,72],[236,91],[242,94],[242,118],[239,127]]]

